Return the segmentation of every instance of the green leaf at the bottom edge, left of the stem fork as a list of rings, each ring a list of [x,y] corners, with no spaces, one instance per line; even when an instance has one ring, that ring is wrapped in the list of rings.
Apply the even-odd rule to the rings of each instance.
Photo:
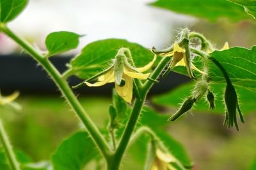
[[[52,155],[54,170],[82,170],[90,160],[99,157],[87,132],[77,132],[65,139]]]

